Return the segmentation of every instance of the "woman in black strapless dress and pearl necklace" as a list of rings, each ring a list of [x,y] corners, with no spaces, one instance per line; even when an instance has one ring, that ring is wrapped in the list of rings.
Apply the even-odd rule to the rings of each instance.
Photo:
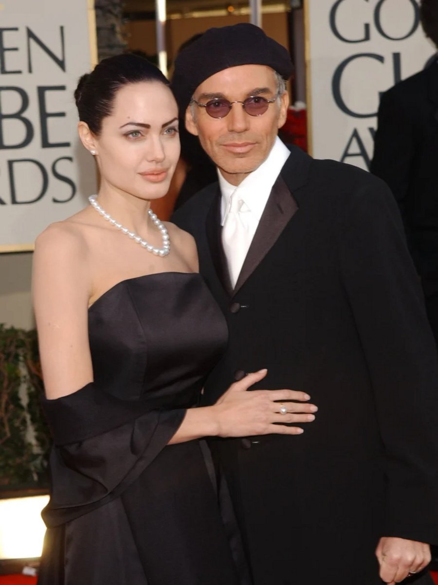
[[[55,442],[39,583],[249,583],[198,439],[299,433],[274,423],[308,421],[312,405],[290,390],[246,393],[260,370],[213,407],[192,408],[227,331],[191,236],[150,212],[179,157],[175,101],[157,68],[132,55],[102,61],[75,97],[101,183],[88,208],[36,242],[34,306]],[[279,402],[291,400],[301,404]]]

